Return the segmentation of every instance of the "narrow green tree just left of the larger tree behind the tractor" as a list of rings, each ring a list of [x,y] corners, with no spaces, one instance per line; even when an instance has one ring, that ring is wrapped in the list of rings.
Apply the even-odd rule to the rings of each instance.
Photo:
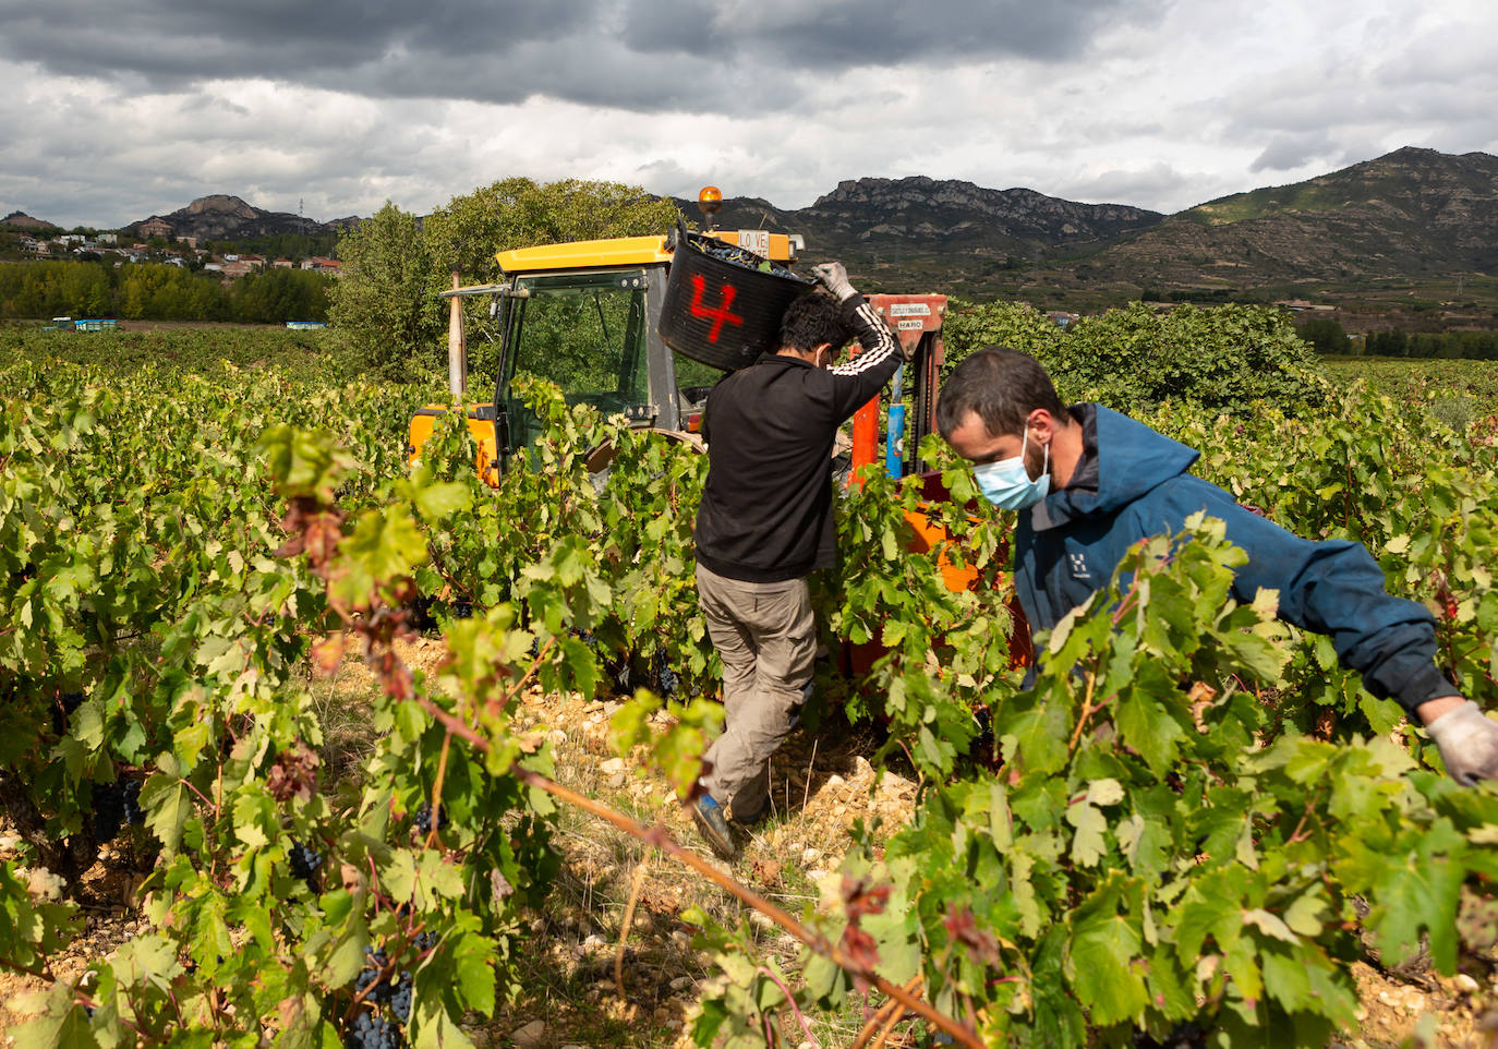
[[[436,274],[416,216],[385,201],[369,222],[339,240],[343,279],[328,319],[364,367],[412,378],[412,363],[434,366],[440,318],[430,294]]]

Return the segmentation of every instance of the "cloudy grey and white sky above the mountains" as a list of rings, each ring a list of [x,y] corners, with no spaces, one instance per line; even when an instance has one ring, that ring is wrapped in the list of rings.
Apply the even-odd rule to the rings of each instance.
[[[327,220],[508,175],[1174,211],[1498,153],[1494,0],[0,0],[0,214]]]

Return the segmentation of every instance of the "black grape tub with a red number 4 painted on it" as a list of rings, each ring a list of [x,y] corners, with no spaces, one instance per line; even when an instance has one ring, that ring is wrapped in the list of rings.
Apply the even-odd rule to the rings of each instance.
[[[737,372],[777,349],[780,315],[815,282],[750,250],[677,225],[661,303],[661,342]]]

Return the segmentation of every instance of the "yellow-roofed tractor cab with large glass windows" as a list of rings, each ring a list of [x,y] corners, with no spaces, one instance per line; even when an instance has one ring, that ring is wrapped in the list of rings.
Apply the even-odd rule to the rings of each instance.
[[[765,231],[713,231],[771,261],[794,261],[800,238]],[[454,402],[467,379],[461,300],[488,297],[499,328],[493,400],[469,409],[479,474],[497,484],[508,465],[541,433],[541,421],[514,396],[517,375],[554,382],[568,403],[622,414],[641,429],[695,441],[701,406],[722,372],[671,351],[659,336],[673,252],[667,237],[620,237],[523,247],[497,255],[505,283],[457,286],[449,328]],[[409,453],[421,454],[446,405],[427,405],[410,424]]]

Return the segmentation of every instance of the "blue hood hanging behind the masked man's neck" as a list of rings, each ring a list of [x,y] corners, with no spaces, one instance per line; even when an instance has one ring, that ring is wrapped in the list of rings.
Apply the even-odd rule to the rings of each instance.
[[[1155,433],[1143,423],[1101,405],[1097,412],[1098,487],[1062,489],[1037,504],[1031,524],[1037,532],[1059,527],[1080,517],[1109,514],[1146,492],[1180,477],[1201,453]]]

